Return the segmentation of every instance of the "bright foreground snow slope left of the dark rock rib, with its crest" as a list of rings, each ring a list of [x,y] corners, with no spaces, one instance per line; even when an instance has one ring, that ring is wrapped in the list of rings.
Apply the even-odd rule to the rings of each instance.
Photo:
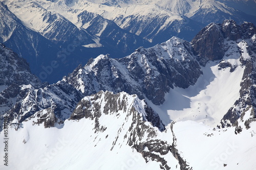
[[[92,109],[97,104],[101,104],[99,108],[101,115],[94,114],[95,117],[91,112],[93,117],[66,120],[63,125],[56,124],[53,128],[45,128],[41,124],[34,125],[36,118],[30,118],[17,131],[15,127],[9,127],[10,162],[8,167],[1,164],[0,168],[130,169],[145,166],[159,168],[157,161],[148,160],[146,163],[142,155],[130,147],[130,143],[134,140],[133,133],[137,133],[136,129],[144,131],[134,136],[135,143],[156,139],[171,143],[172,136],[169,136],[169,130],[162,133],[146,119],[143,120],[147,114],[143,112],[145,103],[136,95],[119,93],[117,101],[125,105],[119,105],[118,111],[107,110],[110,112],[104,113],[104,106],[108,100],[113,100],[108,99],[109,94],[109,92],[100,92],[82,100],[82,102],[89,100],[95,104],[92,105]],[[95,96],[99,98],[95,100]],[[74,113],[73,116],[75,115]],[[3,133],[1,133],[2,137]],[[3,145],[0,149],[3,150]],[[165,153],[163,157],[175,162],[172,168],[178,164],[170,152]]]

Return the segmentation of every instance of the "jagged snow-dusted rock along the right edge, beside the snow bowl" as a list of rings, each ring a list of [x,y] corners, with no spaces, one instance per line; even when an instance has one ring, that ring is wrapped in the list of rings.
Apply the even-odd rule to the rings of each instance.
[[[231,23],[231,24],[230,24]],[[227,25],[231,25],[228,27]],[[224,24],[225,25],[225,24]],[[224,27],[224,26],[223,26]],[[237,26],[234,21],[226,21],[226,28],[229,31],[225,32],[227,39],[236,41],[240,50],[240,62],[245,67],[242,82],[240,84],[240,98],[228,110],[221,120],[219,127],[236,126],[238,128],[238,119],[246,122],[246,127],[249,127],[249,122],[256,121],[255,107],[256,107],[256,89],[254,84],[256,82],[255,64],[256,61],[256,28],[251,23],[244,23]],[[231,71],[231,68],[230,68]],[[243,119],[246,111],[251,108],[251,116],[248,120]]]

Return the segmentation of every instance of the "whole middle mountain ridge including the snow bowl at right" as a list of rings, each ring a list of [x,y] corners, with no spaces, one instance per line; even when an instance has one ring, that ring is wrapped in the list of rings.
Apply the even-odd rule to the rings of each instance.
[[[25,88],[27,92],[12,105],[10,112],[15,112],[15,116],[11,114],[12,119],[22,122],[37,111],[51,107],[56,109],[56,118],[63,121],[70,117],[82,96],[108,90],[137,94],[139,99],[151,103],[155,111],[167,110],[169,118],[160,116],[166,119],[165,125],[181,115],[182,120],[206,121],[211,126],[234,125],[244,109],[254,108],[255,32],[251,23],[237,25],[233,20],[226,20],[221,25],[211,23],[205,27],[191,44],[173,37],[151,48],[140,47],[121,59],[100,55],[85,66],[79,65],[55,84]],[[233,83],[223,83],[226,80]],[[224,91],[218,90],[221,84],[226,85]],[[228,104],[219,100],[217,91],[220,95],[232,93]],[[175,98],[184,105],[172,103]],[[210,103],[204,101],[202,106],[198,98]],[[195,111],[197,114],[192,117],[188,114]]]

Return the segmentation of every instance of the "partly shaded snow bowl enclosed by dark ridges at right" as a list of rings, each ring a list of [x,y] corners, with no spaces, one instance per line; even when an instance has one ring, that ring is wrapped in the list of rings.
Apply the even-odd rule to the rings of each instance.
[[[154,106],[162,115],[169,115],[170,120],[194,120],[216,127],[223,115],[239,98],[240,82],[244,67],[238,67],[234,72],[229,69],[219,70],[219,62],[208,63],[202,67],[204,74],[197,83],[187,89],[175,87],[165,95],[161,106]],[[166,118],[163,118],[166,119]]]

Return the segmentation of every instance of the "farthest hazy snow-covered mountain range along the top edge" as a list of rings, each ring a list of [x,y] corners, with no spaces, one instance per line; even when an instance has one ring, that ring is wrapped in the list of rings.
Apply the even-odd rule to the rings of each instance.
[[[87,28],[90,25],[90,23],[81,23],[77,19],[77,14],[86,10],[110,19],[120,28],[155,43],[166,41],[164,35],[185,37],[190,40],[203,26],[210,22],[223,22],[224,19],[234,19],[239,23],[243,21],[255,23],[255,17],[211,0],[110,2],[77,0],[40,4],[48,10],[58,11],[78,27]],[[190,32],[190,35],[187,32]]]

